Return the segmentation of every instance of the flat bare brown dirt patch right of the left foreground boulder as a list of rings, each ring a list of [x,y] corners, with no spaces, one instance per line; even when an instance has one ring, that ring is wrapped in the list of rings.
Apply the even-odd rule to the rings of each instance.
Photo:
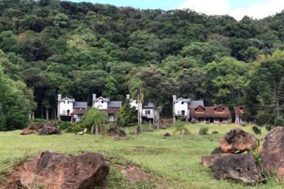
[[[134,165],[129,165],[129,167],[122,169],[121,172],[125,176],[125,179],[129,180],[132,184],[145,181],[150,177],[150,174],[143,172],[139,167],[135,167]]]

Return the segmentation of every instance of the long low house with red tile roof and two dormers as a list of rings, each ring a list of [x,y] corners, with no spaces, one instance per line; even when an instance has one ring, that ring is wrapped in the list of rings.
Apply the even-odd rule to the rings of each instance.
[[[222,105],[213,107],[197,106],[190,108],[190,118],[194,118],[199,122],[228,123],[232,115],[229,112],[229,108]]]

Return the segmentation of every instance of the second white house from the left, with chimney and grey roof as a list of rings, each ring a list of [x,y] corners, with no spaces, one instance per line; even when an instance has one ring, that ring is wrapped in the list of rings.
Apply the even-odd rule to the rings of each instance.
[[[118,109],[120,109],[121,106],[121,101],[111,101],[109,98],[97,98],[96,94],[92,95],[92,107],[106,112],[110,123],[115,122],[115,113],[118,113]]]

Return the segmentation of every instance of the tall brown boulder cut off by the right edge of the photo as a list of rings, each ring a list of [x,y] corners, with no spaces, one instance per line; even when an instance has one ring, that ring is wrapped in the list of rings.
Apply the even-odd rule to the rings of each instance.
[[[284,176],[284,127],[275,127],[267,137],[260,150],[262,168],[265,172],[276,175],[278,179]]]

